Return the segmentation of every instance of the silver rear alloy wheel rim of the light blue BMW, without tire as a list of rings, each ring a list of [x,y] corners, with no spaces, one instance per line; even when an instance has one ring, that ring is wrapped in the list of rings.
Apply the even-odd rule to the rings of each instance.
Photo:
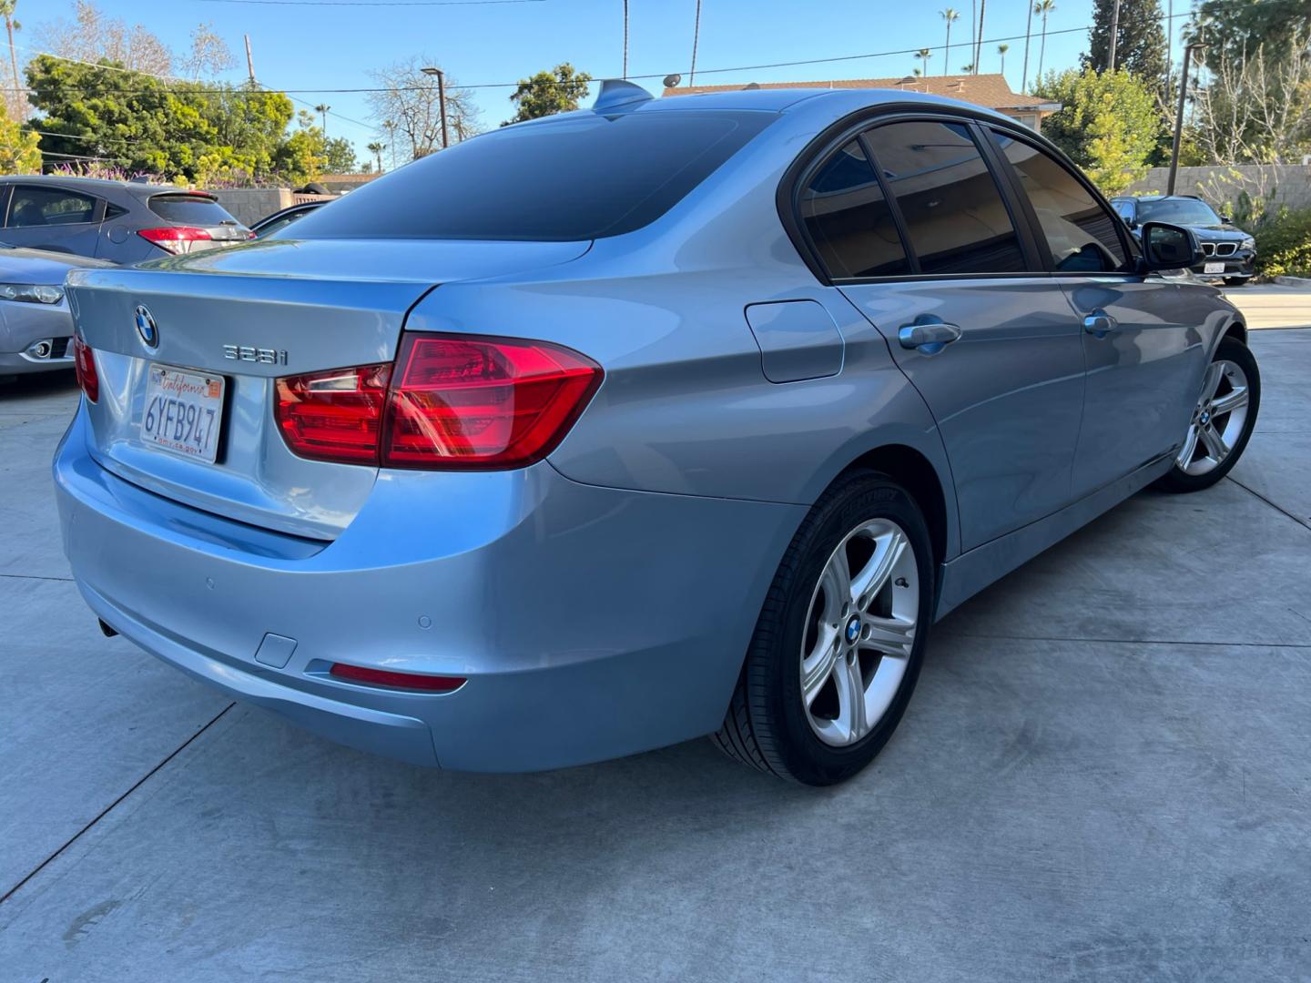
[[[801,642],[801,699],[826,744],[873,730],[910,665],[919,569],[910,537],[890,519],[848,532],[819,574]]]

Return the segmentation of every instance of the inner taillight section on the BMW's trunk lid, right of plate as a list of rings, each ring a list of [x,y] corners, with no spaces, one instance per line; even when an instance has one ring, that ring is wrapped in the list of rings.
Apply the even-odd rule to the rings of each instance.
[[[376,464],[391,364],[337,368],[279,379],[275,415],[302,457]]]

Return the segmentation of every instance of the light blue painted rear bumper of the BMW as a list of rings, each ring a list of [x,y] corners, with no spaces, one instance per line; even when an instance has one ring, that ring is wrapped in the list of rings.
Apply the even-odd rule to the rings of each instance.
[[[54,461],[92,609],[232,697],[420,764],[532,771],[709,733],[800,506],[573,482],[549,464],[383,472],[332,543],[153,495],[102,469],[79,410]],[[265,633],[296,640],[282,668]],[[451,693],[332,662],[464,676]]]

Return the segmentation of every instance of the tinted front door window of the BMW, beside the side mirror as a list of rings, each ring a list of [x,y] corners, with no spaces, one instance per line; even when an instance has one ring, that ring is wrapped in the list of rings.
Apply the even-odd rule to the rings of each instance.
[[[1051,155],[1009,134],[988,132],[1020,178],[1055,270],[1112,273],[1122,269],[1126,257],[1116,215]]]

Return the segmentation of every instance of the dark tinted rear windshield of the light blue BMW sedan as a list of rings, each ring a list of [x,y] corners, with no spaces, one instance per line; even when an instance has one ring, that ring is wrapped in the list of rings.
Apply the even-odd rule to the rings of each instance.
[[[669,211],[777,117],[648,111],[494,130],[296,223],[295,239],[600,239]]]

